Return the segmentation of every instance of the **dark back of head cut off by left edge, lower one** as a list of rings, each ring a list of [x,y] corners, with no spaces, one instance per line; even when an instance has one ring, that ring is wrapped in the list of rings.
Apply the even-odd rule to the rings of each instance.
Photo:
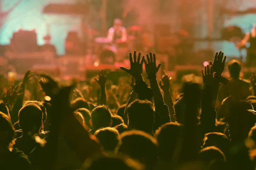
[[[12,141],[15,139],[15,129],[12,126],[9,117],[0,112],[0,145],[9,147]]]

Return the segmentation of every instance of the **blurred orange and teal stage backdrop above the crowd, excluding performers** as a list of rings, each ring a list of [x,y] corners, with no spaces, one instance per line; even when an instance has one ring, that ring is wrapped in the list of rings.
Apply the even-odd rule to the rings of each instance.
[[[113,44],[116,18],[127,38]],[[236,43],[255,22],[256,0],[0,0],[0,74],[19,79],[32,69],[87,80],[107,69],[119,76],[137,50],[156,53],[178,79],[200,73],[220,50],[245,63],[247,46]]]

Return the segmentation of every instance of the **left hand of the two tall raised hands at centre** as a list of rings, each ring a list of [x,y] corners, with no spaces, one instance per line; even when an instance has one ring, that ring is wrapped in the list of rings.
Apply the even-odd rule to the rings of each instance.
[[[128,69],[128,68],[120,67],[120,69],[125,71],[125,72],[127,72],[128,74],[130,74],[133,77],[137,77],[137,76],[141,75],[142,74],[142,70],[143,70],[142,66],[143,66],[144,56],[143,56],[142,61],[140,62],[140,55],[141,55],[141,53],[139,52],[139,55],[137,57],[136,56],[136,51],[134,51],[134,56],[132,57],[132,54],[130,52],[131,68]]]

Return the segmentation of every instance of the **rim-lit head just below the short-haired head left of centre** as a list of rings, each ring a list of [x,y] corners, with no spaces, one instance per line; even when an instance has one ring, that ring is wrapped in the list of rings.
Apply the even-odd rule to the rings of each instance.
[[[113,127],[104,127],[96,130],[94,133],[105,151],[114,151],[117,144],[120,142],[120,135]]]

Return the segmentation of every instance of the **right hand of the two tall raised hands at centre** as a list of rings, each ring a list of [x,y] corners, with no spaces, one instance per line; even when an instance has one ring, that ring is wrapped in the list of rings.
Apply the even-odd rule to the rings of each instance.
[[[150,52],[149,56],[147,54],[148,62],[146,62],[145,58],[143,57],[143,61],[145,62],[145,68],[146,68],[148,77],[156,75],[157,71],[159,70],[159,68],[161,66],[161,63],[156,65],[156,55],[155,54],[153,54],[153,56],[152,56],[152,53]]]

